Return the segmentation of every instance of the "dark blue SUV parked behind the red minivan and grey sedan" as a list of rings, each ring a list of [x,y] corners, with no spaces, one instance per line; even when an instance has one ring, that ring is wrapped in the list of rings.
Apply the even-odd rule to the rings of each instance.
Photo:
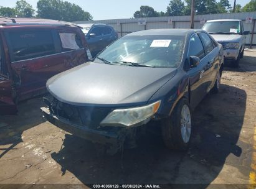
[[[92,57],[95,57],[111,42],[118,39],[117,32],[106,24],[77,24],[83,29]]]

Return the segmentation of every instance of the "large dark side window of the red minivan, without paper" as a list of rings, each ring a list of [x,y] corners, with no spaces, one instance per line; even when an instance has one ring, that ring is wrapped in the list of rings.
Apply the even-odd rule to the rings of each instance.
[[[50,30],[16,30],[7,32],[11,62],[55,53]]]

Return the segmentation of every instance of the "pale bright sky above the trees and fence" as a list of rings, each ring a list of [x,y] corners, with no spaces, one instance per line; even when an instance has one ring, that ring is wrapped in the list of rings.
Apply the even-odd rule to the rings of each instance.
[[[0,6],[15,7],[17,0],[0,0]],[[36,9],[38,0],[26,0]],[[155,11],[166,11],[169,0],[65,0],[82,7],[84,11],[90,12],[93,20],[105,19],[129,19],[135,11],[140,10],[141,5],[151,6]],[[229,0],[234,4],[234,0]],[[250,0],[237,0],[237,4],[244,6]]]

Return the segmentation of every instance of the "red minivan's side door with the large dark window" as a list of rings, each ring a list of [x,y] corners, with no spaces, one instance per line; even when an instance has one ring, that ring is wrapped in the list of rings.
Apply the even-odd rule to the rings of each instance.
[[[9,48],[11,68],[17,76],[15,86],[19,99],[36,96],[45,88],[47,71],[57,64],[55,43],[50,29],[9,29],[4,33]],[[61,70],[60,70],[61,71]]]

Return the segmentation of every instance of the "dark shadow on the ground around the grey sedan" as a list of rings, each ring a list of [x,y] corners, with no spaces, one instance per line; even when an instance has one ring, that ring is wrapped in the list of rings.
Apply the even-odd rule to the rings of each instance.
[[[228,85],[221,85],[218,94],[207,95],[194,111],[194,132],[187,152],[166,149],[157,132],[140,137],[136,149],[99,155],[90,142],[66,134],[64,148],[51,155],[61,165],[62,175],[69,171],[88,187],[93,183],[194,183],[206,188],[229,158],[242,155],[239,145],[243,144],[238,141],[246,97],[244,90]],[[154,124],[159,127],[159,122]]]

